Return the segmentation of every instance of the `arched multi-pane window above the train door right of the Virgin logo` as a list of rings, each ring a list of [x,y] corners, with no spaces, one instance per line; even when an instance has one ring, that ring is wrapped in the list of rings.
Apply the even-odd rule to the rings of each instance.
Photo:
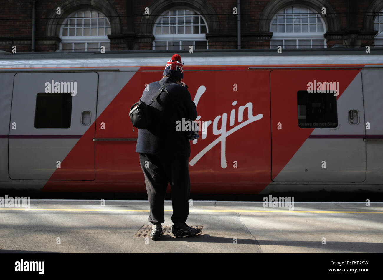
[[[270,48],[325,48],[326,25],[321,16],[303,6],[287,7],[273,16],[270,24],[273,36]]]

